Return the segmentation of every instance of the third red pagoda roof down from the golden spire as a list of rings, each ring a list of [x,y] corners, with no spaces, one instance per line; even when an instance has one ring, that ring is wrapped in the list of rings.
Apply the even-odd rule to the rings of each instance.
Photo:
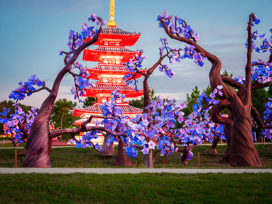
[[[107,74],[107,75],[123,75],[129,73],[128,69],[124,65],[97,65],[92,68],[87,68],[90,73],[88,78],[90,79],[99,79],[99,75]],[[145,73],[147,70],[140,70],[140,72]],[[133,74],[133,73],[131,73]],[[139,78],[142,75],[137,73],[135,78]]]

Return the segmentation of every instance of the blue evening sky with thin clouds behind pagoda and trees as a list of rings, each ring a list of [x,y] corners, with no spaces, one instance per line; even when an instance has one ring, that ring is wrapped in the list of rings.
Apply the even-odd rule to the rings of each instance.
[[[244,75],[248,15],[254,12],[261,23],[256,27],[259,33],[269,33],[272,28],[271,14],[268,9],[272,2],[256,1],[168,1],[153,0],[116,0],[115,22],[117,27],[140,32],[141,37],[131,50],[143,49],[147,60],[143,66],[149,68],[158,59],[160,38],[167,37],[163,29],[158,28],[157,15],[167,10],[170,15],[179,15],[200,36],[198,44],[218,56],[224,69],[234,76]],[[173,1],[174,2],[174,1]],[[14,0],[0,2],[2,62],[0,101],[8,100],[11,90],[18,87],[18,82],[36,74],[52,87],[56,73],[63,67],[63,56],[59,50],[68,50],[68,32],[80,31],[82,23],[88,21],[89,14],[95,13],[108,21],[109,0],[59,0],[35,1]],[[170,46],[183,47],[184,44],[170,40]],[[95,47],[90,47],[91,49]],[[261,56],[253,55],[256,59]],[[263,59],[267,59],[263,56]],[[81,61],[81,60],[79,60]],[[97,63],[83,63],[95,66]],[[202,91],[209,85],[209,69],[206,62],[197,67],[192,60],[183,60],[173,64],[176,72],[173,79],[156,70],[150,77],[149,86],[156,95],[171,96],[182,102],[186,93],[191,93],[195,86]],[[222,69],[222,72],[224,71]],[[73,100],[70,93],[73,78],[66,76],[61,83],[57,99]],[[141,84],[139,85],[141,87]],[[40,107],[48,92],[42,91],[27,97],[22,103]]]

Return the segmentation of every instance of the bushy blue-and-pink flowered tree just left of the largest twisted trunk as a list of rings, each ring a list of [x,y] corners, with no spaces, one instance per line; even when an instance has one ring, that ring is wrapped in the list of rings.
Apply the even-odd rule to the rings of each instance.
[[[215,92],[221,94],[220,89],[222,89],[222,87],[218,86],[215,89]],[[193,157],[193,152],[191,150],[196,145],[202,144],[202,141],[212,143],[210,147],[211,153],[217,154],[217,142],[219,139],[225,138],[225,133],[223,130],[224,126],[214,123],[208,112],[213,105],[219,103],[219,101],[214,98],[214,93],[211,93],[210,96],[206,96],[205,93],[202,93],[199,98],[197,98],[196,104],[193,104],[193,112],[190,115],[183,117],[185,125],[177,130],[176,134],[179,138],[178,144],[184,146],[184,149],[178,149],[178,151],[182,152],[181,164],[188,164],[187,160],[190,160]],[[189,146],[189,144],[192,145]]]

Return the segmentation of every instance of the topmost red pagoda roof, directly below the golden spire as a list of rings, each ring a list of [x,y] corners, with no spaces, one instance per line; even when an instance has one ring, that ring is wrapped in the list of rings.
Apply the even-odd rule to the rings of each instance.
[[[102,29],[99,38],[94,45],[101,45],[103,44],[103,40],[113,39],[120,40],[120,46],[133,46],[140,36],[140,33],[125,31],[118,27],[106,27]],[[87,38],[86,42],[89,40],[91,39]]]

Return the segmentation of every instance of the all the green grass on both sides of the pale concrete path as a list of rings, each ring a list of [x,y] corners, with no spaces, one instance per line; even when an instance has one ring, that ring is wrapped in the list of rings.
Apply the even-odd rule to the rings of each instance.
[[[272,145],[257,145],[263,168],[272,166]],[[188,165],[180,154],[157,156],[154,168],[233,168],[209,154],[209,146],[197,146]],[[17,150],[18,152],[20,150]],[[117,147],[115,147],[115,154]],[[114,157],[102,157],[93,148],[53,148],[52,167],[144,168],[143,154],[131,159],[133,167],[112,167]],[[18,155],[17,167],[22,167]],[[15,149],[0,149],[0,167],[14,167]],[[271,203],[271,173],[141,173],[141,174],[0,174],[0,203]]]

